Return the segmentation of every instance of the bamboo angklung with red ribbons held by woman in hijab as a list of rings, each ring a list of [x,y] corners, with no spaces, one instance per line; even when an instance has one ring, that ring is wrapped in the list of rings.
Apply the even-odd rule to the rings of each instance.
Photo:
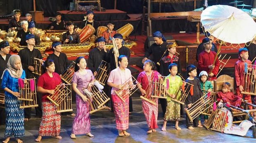
[[[36,99],[36,78],[18,79],[20,108],[38,107]]]

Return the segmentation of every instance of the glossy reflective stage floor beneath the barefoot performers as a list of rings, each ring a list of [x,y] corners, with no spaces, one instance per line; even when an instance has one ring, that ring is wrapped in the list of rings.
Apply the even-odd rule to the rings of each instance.
[[[75,101],[75,100],[73,100]],[[38,136],[38,128],[41,122],[40,118],[35,118],[35,111],[32,109],[32,118],[25,122],[25,137],[24,143],[32,143]],[[76,113],[76,104],[73,104],[73,112]],[[195,130],[188,130],[185,127],[185,119],[181,118],[180,127],[181,131],[177,131],[174,128],[174,122],[167,123],[167,131],[161,131],[163,125],[163,117],[161,106],[159,104],[159,118],[157,132],[152,134],[146,134],[147,122],[142,111],[141,99],[139,95],[135,93],[133,95],[133,113],[130,115],[129,129],[130,136],[118,137],[116,130],[114,113],[103,110],[91,115],[91,133],[94,137],[88,136],[76,136],[76,139],[71,139],[71,127],[73,123],[71,116],[62,116],[61,122],[61,140],[55,138],[43,138],[42,143],[245,143],[256,142],[256,138],[253,138],[252,131],[249,130],[247,135],[234,136],[229,134],[222,134],[216,131],[209,131],[205,128],[196,127]],[[5,133],[5,125],[0,125],[0,141],[3,141]],[[11,138],[9,143],[16,143],[14,138]]]

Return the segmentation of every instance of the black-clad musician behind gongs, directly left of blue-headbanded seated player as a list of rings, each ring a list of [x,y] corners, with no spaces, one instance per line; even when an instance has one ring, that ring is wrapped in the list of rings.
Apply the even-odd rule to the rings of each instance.
[[[20,45],[26,46],[26,35],[29,34],[28,30],[28,21],[21,21],[21,27],[22,29],[18,31],[17,37],[21,38],[21,41],[19,42]]]

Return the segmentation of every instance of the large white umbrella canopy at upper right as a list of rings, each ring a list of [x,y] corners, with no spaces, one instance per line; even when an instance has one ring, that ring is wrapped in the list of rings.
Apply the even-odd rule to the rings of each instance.
[[[201,14],[201,23],[208,31],[223,42],[242,44],[256,35],[256,23],[245,12],[228,5],[213,5]]]

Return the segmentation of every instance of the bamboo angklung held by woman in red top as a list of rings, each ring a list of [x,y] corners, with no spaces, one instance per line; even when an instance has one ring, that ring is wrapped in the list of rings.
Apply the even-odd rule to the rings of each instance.
[[[57,106],[57,113],[73,111],[71,84],[60,83],[54,91],[54,94],[48,95],[47,99]]]

